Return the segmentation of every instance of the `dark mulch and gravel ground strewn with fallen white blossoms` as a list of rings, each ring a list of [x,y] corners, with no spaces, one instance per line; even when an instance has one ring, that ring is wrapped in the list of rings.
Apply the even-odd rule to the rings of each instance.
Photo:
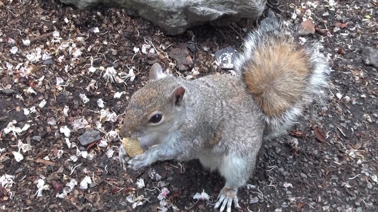
[[[316,31],[306,39],[324,46],[333,88],[316,121],[306,116],[302,126],[263,145],[254,177],[239,191],[240,211],[378,210],[378,72],[361,59],[364,47],[378,45],[377,6],[376,0],[268,1],[266,11],[288,23],[314,20]],[[222,177],[198,161],[124,172],[115,131],[153,63],[189,80],[229,73],[214,63],[214,53],[240,50],[255,25],[241,20],[166,36],[119,8],[0,0],[0,211],[212,211]],[[151,48],[143,52],[143,44]],[[172,52],[180,44],[191,49],[199,75],[178,70]],[[124,72],[118,75],[124,81],[112,71]],[[101,138],[82,146],[79,137],[90,130]],[[211,198],[194,199],[197,192]]]

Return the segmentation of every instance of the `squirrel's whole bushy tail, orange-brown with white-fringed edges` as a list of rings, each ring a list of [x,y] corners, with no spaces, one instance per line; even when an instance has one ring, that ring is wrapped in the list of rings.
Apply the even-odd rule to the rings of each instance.
[[[324,101],[328,63],[317,45],[296,41],[298,29],[287,32],[277,20],[258,26],[235,64],[262,111],[265,138],[287,131],[306,104]]]

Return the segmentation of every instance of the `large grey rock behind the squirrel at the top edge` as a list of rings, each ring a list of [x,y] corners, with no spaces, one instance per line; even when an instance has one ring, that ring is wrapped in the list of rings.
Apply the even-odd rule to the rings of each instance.
[[[210,23],[226,26],[242,18],[256,19],[262,14],[266,0],[60,0],[79,9],[99,4],[132,9],[166,34],[181,34],[193,26]]]

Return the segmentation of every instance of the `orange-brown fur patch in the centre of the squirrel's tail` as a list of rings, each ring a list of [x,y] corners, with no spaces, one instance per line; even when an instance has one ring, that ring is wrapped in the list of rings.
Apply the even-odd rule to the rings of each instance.
[[[260,44],[252,57],[244,81],[265,115],[278,118],[300,101],[312,72],[310,58],[293,41],[273,39]]]

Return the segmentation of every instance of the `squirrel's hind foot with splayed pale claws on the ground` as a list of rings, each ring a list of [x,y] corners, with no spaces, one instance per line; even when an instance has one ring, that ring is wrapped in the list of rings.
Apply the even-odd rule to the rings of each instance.
[[[218,200],[217,203],[214,206],[214,209],[217,209],[219,206],[220,207],[219,211],[223,212],[225,210],[225,207],[227,206],[226,212],[231,212],[231,204],[234,202],[234,206],[236,208],[240,208],[238,199],[236,196],[236,190],[228,187],[223,187],[221,192],[218,195]]]

